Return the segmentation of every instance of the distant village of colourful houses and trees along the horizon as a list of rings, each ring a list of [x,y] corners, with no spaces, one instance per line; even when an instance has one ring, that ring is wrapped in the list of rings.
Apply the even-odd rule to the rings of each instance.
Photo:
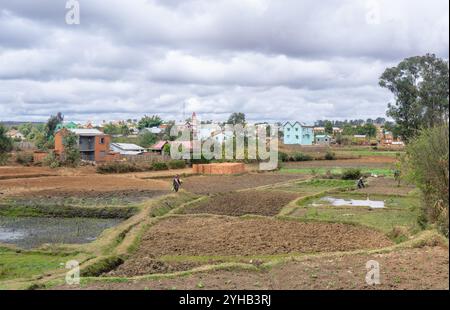
[[[216,130],[208,128],[207,125],[211,124],[217,125]],[[172,127],[175,126],[180,131],[187,129],[193,133],[192,137],[200,141],[213,139],[223,144],[234,136],[234,132],[225,129],[225,124],[270,126],[268,123],[247,122],[243,113],[232,113],[222,123],[199,121],[195,112],[185,121],[178,122],[164,121],[158,115],[152,115],[140,120],[79,123],[65,120],[62,113],[51,116],[47,123],[4,122],[7,128],[5,135],[14,141],[15,146],[10,160],[26,164],[52,164],[52,158],[63,156],[63,137],[68,133],[77,137],[76,147],[83,163],[167,161],[170,160],[170,145],[177,138],[170,135]],[[279,128],[280,151],[289,146],[301,146],[306,153],[317,146],[370,146],[374,149],[401,149],[404,146],[396,133],[395,123],[382,117],[367,120],[321,120],[315,122],[314,126],[299,121],[277,122],[276,125]],[[182,144],[192,151],[191,141],[182,141]]]

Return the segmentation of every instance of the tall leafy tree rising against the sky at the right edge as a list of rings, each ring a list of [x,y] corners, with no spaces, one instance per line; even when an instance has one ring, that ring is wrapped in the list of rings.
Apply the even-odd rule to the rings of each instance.
[[[434,54],[406,58],[384,71],[380,86],[395,96],[387,115],[399,125],[405,141],[416,136],[421,128],[448,121],[448,61]]]

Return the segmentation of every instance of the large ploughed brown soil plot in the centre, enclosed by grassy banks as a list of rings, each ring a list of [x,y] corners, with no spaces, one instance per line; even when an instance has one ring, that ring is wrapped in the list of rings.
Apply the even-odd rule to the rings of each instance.
[[[137,252],[114,275],[185,270],[162,256],[255,256],[375,249],[392,245],[382,233],[338,223],[302,223],[275,219],[171,217],[142,237]],[[162,268],[159,268],[162,266]],[[191,267],[191,265],[188,264]]]

